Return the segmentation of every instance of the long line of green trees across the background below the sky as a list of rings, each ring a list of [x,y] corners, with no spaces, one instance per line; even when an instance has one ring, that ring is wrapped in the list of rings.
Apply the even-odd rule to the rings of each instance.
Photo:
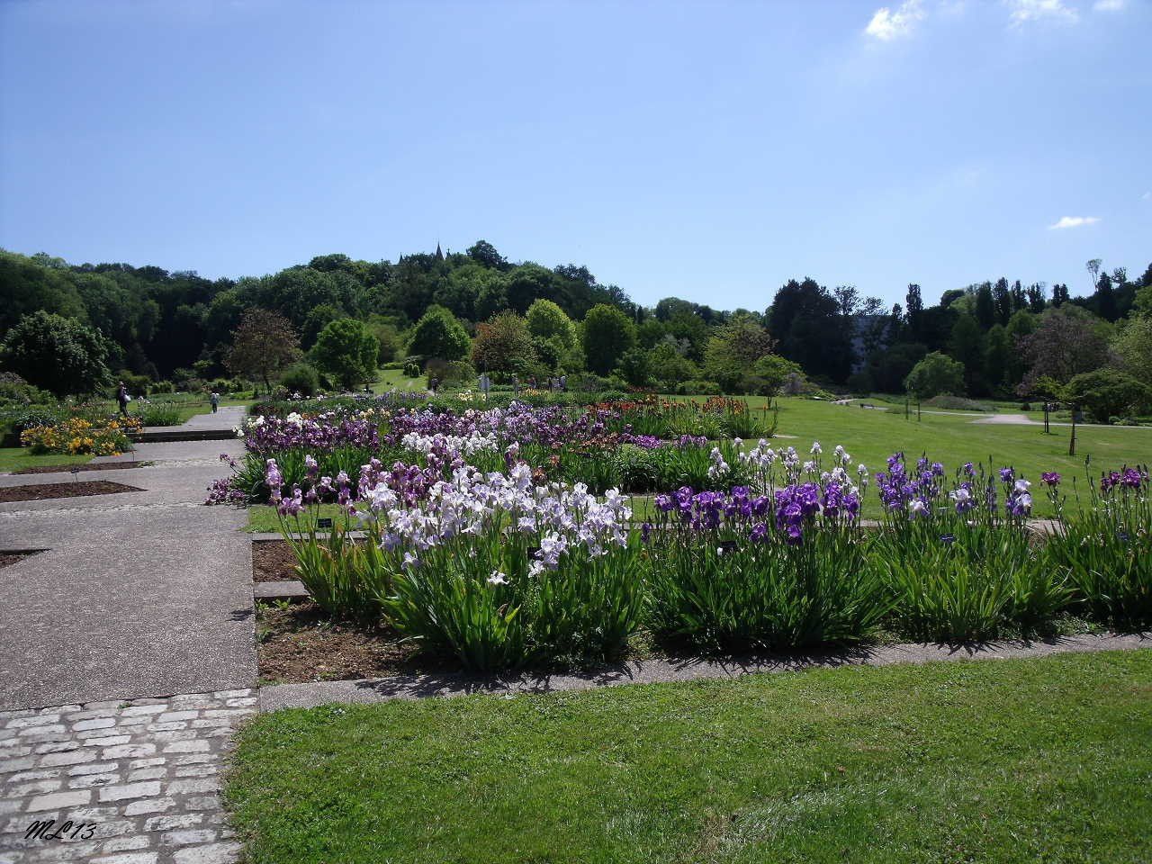
[[[912,384],[932,389],[940,379],[955,395],[1011,396],[1041,378],[1067,382],[1101,367],[1146,376],[1152,265],[1130,279],[1097,259],[1085,276],[1091,290],[1081,296],[1067,283],[1001,278],[946,290],[935,304],[909,285],[904,303],[890,308],[851,286],[791,279],[763,311],[726,311],[677,297],[642,306],[584,266],[510,263],[483,240],[465,252],[438,248],[395,263],[326,255],[235,280],[0,251],[0,362],[36,374],[43,350],[13,344],[28,331],[25,341],[47,340],[65,354],[96,340],[108,370],[179,381],[236,371],[259,380],[302,361],[343,386],[377,365],[406,363],[445,376],[590,373],[698,393],[776,392],[808,380],[903,392],[925,361],[945,369],[938,357],[948,374]],[[245,355],[237,335],[255,339],[260,321],[270,325],[257,340],[264,348]],[[270,354],[272,343],[288,348]],[[262,351],[273,367],[256,369],[251,358]],[[99,377],[76,365],[79,378]]]

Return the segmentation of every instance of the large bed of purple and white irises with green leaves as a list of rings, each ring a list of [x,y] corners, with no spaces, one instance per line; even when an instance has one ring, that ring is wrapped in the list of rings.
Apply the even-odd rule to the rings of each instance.
[[[842,447],[659,439],[624,423],[629,410],[257,419],[214,494],[278,507],[329,619],[473,669],[599,662],[641,631],[692,650],[790,651],[1152,620],[1146,469],[1083,497],[1045,473],[1059,530],[1043,544],[1028,525],[1032,484],[1010,468],[949,472],[895,454],[873,478]],[[882,518],[865,530],[872,485]],[[634,521],[621,486],[661,491],[651,521]],[[321,502],[366,539],[308,529]]]

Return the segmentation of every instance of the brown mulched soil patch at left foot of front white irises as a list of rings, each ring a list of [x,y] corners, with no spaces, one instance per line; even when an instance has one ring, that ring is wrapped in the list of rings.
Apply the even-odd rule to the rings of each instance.
[[[257,605],[256,655],[264,682],[340,681],[458,668],[416,654],[415,646],[402,643],[396,632],[334,622],[311,601]]]

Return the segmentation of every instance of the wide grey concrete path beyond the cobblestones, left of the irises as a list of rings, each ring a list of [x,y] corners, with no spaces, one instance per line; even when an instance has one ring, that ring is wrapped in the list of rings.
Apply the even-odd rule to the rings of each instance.
[[[241,447],[138,445],[106,478],[142,492],[0,505],[0,550],[47,550],[0,570],[0,708],[253,685],[245,516],[203,506]]]

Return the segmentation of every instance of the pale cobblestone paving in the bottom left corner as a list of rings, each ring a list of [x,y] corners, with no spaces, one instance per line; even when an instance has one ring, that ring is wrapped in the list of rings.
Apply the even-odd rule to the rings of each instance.
[[[256,702],[240,688],[0,712],[0,864],[236,861],[219,774]],[[29,835],[50,819],[67,838]]]

